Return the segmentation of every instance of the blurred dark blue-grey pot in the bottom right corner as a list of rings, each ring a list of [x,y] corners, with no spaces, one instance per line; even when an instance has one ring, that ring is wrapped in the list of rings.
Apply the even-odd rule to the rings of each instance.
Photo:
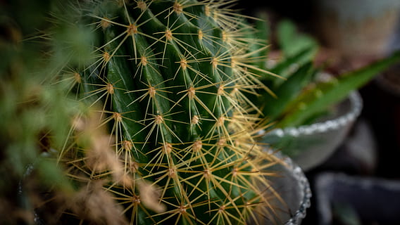
[[[339,173],[315,177],[318,224],[399,224],[400,181]]]

